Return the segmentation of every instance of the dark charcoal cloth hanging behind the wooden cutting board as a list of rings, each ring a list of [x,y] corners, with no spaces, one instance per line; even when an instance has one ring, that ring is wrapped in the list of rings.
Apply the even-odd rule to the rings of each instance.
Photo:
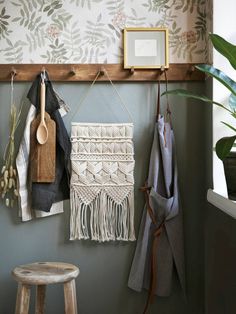
[[[41,75],[33,82],[28,98],[40,111]],[[52,204],[69,199],[70,196],[70,151],[71,143],[64,122],[60,115],[58,95],[53,90],[46,72],[46,106],[45,110],[56,122],[56,179],[53,183],[32,183],[32,208],[49,212]]]

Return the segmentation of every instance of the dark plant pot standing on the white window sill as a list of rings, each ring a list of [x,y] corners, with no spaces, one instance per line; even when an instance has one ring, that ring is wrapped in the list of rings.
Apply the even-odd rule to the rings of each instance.
[[[236,152],[230,152],[223,160],[228,198],[236,201]]]

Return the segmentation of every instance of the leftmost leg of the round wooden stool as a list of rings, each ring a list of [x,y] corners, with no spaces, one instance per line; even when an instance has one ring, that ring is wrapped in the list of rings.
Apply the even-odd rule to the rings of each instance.
[[[15,314],[28,314],[30,301],[30,286],[18,284]]]

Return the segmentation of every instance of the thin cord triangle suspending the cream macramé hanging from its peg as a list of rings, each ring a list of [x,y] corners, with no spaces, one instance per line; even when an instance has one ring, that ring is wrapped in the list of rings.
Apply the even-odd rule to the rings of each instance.
[[[121,105],[122,105],[124,111],[126,111],[126,112],[128,113],[130,122],[133,122],[132,115],[131,115],[131,113],[130,113],[128,107],[127,107],[127,105],[126,105],[125,102],[123,101],[123,99],[122,99],[120,93],[118,92],[116,86],[115,86],[114,83],[112,82],[112,80],[111,80],[111,78],[110,78],[108,72],[107,72],[106,70],[103,70],[103,72],[104,72],[104,74],[107,76],[109,82],[111,83],[111,86],[112,86],[113,89],[115,90],[115,92],[116,92],[116,94],[117,94],[117,96],[118,96],[118,98],[119,98],[119,100],[120,100],[120,102],[121,102]],[[98,78],[99,78],[100,75],[101,75],[101,71],[98,71],[98,73],[96,74],[96,76],[95,76],[95,78],[94,78],[92,84],[89,86],[89,88],[86,90],[86,92],[85,92],[84,95],[82,96],[82,98],[81,98],[81,100],[80,100],[80,102],[79,102],[79,104],[78,104],[77,109],[76,109],[75,112],[72,114],[72,117],[71,117],[70,121],[72,121],[72,119],[74,118],[74,116],[75,116],[75,115],[79,112],[79,110],[81,109],[83,102],[84,102],[84,101],[86,100],[86,98],[88,97],[88,95],[89,95],[91,89],[93,88],[94,84],[96,83],[96,81],[98,80]]]

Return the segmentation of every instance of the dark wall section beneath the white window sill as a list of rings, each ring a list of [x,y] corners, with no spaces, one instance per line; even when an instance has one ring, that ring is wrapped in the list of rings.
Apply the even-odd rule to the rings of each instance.
[[[214,206],[206,212],[206,314],[236,313],[235,219]]]

